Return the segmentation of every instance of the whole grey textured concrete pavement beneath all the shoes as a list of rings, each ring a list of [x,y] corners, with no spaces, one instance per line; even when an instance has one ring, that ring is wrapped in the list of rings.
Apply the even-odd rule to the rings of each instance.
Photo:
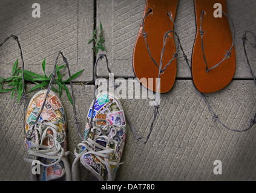
[[[33,1],[0,1],[0,39],[21,33],[19,39],[24,50],[25,67],[31,71],[42,74],[41,63],[47,57],[47,74],[50,74],[59,50],[70,62],[72,74],[86,69],[76,81],[90,83],[74,86],[77,116],[84,127],[84,118],[94,95],[91,82],[94,55],[92,45],[87,44],[93,35],[94,22],[97,27],[102,22],[107,47],[104,53],[110,60],[111,71],[116,77],[134,77],[131,66],[133,46],[145,1],[44,0],[38,3],[41,4],[41,18],[34,19],[31,17]],[[228,14],[237,30],[237,80],[219,92],[206,95],[206,98],[224,124],[241,130],[248,126],[256,112],[256,89],[239,39],[245,30],[256,33],[256,2],[227,0],[227,3]],[[195,35],[192,1],[179,1],[176,22],[183,48],[190,57]],[[254,71],[255,56],[256,52],[248,48]],[[8,77],[17,58],[19,50],[14,41],[0,48],[0,77]],[[108,76],[105,60],[100,61],[97,75]],[[124,164],[120,166],[116,180],[256,180],[256,126],[245,133],[226,130],[212,119],[208,106],[192,85],[189,69],[183,60],[178,60],[177,77],[179,80],[172,90],[161,95],[159,115],[148,143],[137,142],[128,128],[122,157]],[[140,95],[142,90],[146,89],[140,86]],[[131,88],[130,91],[135,92]],[[61,101],[68,117],[68,150],[73,152],[80,140],[65,93]],[[154,110],[149,106],[149,99],[140,96],[121,102],[133,127],[146,137]],[[15,99],[11,100],[11,93],[0,93],[0,180],[29,180],[30,165],[23,160],[27,153],[22,108],[22,102],[17,104]],[[214,174],[214,160],[222,161],[222,175]],[[70,156],[71,162],[73,157]]]

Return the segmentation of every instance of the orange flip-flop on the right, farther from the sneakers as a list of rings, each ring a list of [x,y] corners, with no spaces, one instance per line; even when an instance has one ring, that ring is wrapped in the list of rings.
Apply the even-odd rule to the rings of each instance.
[[[216,5],[221,5],[222,17],[214,16],[216,8],[220,8]],[[194,0],[194,6],[197,33],[191,61],[192,79],[200,92],[216,92],[227,86],[235,74],[234,37],[226,15],[226,1]]]

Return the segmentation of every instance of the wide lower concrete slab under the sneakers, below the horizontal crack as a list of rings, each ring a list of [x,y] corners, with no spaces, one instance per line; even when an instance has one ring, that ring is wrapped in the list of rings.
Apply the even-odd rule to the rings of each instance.
[[[134,88],[129,90],[134,93]],[[139,90],[141,96],[145,88],[140,86]],[[84,125],[94,86],[76,85],[74,94],[78,119]],[[0,97],[0,180],[29,180],[29,163],[22,159],[26,157],[23,105],[10,100],[10,95],[1,93]],[[254,116],[255,96],[253,81],[237,80],[206,98],[223,123],[241,130]],[[68,150],[73,152],[80,139],[65,94],[61,101],[69,120]],[[149,99],[121,99],[121,103],[137,133],[146,137],[154,110]],[[191,80],[178,80],[171,92],[161,95],[159,115],[146,145],[137,142],[128,127],[123,165],[116,180],[256,180],[255,138],[255,126],[245,133],[235,133],[217,124]],[[213,172],[215,160],[222,161],[222,175]]]

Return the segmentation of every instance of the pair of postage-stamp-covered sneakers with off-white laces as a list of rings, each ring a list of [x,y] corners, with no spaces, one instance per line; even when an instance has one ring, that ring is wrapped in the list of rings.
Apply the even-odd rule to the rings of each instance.
[[[74,150],[72,166],[68,162],[67,116],[56,93],[50,91],[47,95],[47,90],[41,90],[31,98],[25,130],[28,160],[34,162],[31,180],[115,179],[125,145],[126,120],[123,107],[113,94],[101,93],[91,104],[84,141]],[[33,169],[35,163],[39,172]]]

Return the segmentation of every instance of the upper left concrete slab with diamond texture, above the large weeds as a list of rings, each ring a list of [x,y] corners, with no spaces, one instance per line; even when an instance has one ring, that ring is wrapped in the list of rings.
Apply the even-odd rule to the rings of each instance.
[[[1,1],[0,42],[11,34],[18,35],[24,54],[25,69],[43,74],[41,64],[46,57],[47,74],[53,71],[57,53],[62,51],[71,72],[85,69],[76,81],[93,81],[93,51],[87,38],[93,33],[94,1],[47,1],[38,3],[41,17],[33,18],[34,1]],[[14,40],[0,48],[0,77],[7,78],[19,48]],[[58,62],[62,64],[62,62]]]

